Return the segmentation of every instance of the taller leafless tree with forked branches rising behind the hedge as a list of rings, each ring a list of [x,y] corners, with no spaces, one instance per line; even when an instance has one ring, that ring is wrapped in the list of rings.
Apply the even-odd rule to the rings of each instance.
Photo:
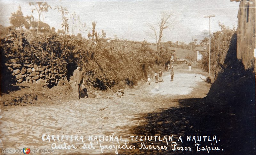
[[[169,26],[171,25],[169,19],[171,18],[172,14],[169,12],[161,12],[161,19],[158,22],[158,28],[159,28],[159,37],[158,37],[158,52],[160,51],[160,43],[163,37],[163,31],[164,29],[169,29]]]

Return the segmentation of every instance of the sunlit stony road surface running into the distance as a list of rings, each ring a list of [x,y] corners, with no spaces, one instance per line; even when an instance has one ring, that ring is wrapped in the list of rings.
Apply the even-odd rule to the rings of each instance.
[[[178,100],[203,98],[210,88],[210,85],[200,79],[200,77],[205,79],[205,72],[193,69],[193,66],[192,71],[188,71],[187,65],[175,65],[174,69],[174,81],[170,81],[170,72],[164,72],[164,82],[154,83],[155,79],[152,79],[153,82],[150,85],[144,84],[137,89],[125,90],[126,96],[122,98],[84,98],[60,100],[55,104],[5,107],[1,111],[1,153],[7,149],[28,147],[31,152],[32,150],[38,151],[40,148],[39,154],[49,154],[47,151],[51,150],[54,151],[53,154],[101,154],[102,152],[107,154],[165,154],[166,150],[140,149],[140,141],[134,139],[132,141],[130,136],[136,136],[135,134],[138,133],[136,130],[140,126],[150,128],[150,120],[145,119],[145,115],[158,116],[159,113],[160,118],[160,113],[164,109],[179,108]],[[171,115],[165,117],[164,121],[160,121],[157,125],[162,128],[163,124],[168,124],[170,121],[172,122]],[[180,121],[186,122],[189,119]],[[174,124],[177,128],[184,130],[184,126],[180,126],[179,121]],[[145,136],[173,135],[174,138],[186,132],[184,130],[180,133],[175,131],[163,133],[157,128],[152,130],[145,129],[141,132],[144,132]],[[47,135],[50,135],[49,139]],[[57,135],[60,136],[59,139]],[[62,140],[61,135],[63,135]],[[109,135],[114,135],[114,138],[110,139]],[[81,136],[83,136],[83,141]],[[92,136],[92,146],[95,148],[91,146],[89,136]],[[99,136],[104,136],[104,138]],[[119,144],[122,147],[125,140],[127,148],[109,148]],[[163,145],[164,142],[161,143]],[[56,149],[59,145],[63,148]],[[103,149],[103,145],[108,145],[108,148]],[[129,146],[131,146],[130,149]],[[88,149],[90,147],[92,148]]]

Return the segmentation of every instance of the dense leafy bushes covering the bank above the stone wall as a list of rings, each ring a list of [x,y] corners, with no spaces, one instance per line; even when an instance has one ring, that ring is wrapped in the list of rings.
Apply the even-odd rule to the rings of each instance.
[[[18,58],[20,64],[29,61],[37,65],[50,65],[53,70],[69,78],[77,63],[82,64],[85,82],[100,89],[107,89],[120,81],[134,85],[147,77],[154,64],[165,63],[148,47],[147,42],[116,41],[105,43],[51,34],[29,39],[23,30],[11,30],[1,38],[2,67],[4,62]],[[166,60],[165,60],[166,59]]]

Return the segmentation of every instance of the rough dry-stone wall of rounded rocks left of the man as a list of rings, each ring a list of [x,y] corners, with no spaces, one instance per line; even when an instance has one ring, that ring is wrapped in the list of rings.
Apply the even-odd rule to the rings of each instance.
[[[17,63],[18,60],[10,59],[5,65],[18,83],[26,82],[43,85],[57,85],[58,81],[65,79],[63,72],[52,68],[49,65],[37,66],[26,61],[23,64]]]

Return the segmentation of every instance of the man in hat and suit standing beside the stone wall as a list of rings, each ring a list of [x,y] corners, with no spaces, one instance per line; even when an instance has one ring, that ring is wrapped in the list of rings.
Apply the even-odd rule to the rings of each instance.
[[[75,82],[76,98],[80,99],[80,87],[83,82],[83,72],[81,71],[81,64],[77,64],[76,70],[73,72],[73,79]],[[84,82],[83,82],[84,84]]]

